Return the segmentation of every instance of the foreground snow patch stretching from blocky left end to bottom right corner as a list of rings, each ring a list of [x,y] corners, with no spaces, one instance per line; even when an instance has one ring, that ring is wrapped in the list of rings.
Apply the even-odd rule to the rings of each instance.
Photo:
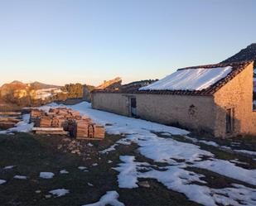
[[[185,170],[184,165],[169,165],[162,169],[149,169],[146,172],[139,172],[145,163],[134,162],[133,156],[120,156],[123,163],[119,164],[118,185],[120,188],[137,188],[138,178],[156,179],[164,184],[168,189],[185,194],[188,199],[199,204],[215,206],[223,205],[255,205],[256,189],[251,189],[240,184],[232,184],[232,187],[224,189],[211,189],[205,185],[204,180],[200,180],[204,175]],[[147,164],[148,165],[148,164]],[[127,175],[126,175],[127,174]],[[128,177],[127,177],[128,176]]]

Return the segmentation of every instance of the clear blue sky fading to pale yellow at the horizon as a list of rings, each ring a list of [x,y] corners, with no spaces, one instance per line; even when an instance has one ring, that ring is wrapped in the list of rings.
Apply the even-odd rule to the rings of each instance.
[[[124,83],[256,42],[254,0],[0,0],[0,85]]]

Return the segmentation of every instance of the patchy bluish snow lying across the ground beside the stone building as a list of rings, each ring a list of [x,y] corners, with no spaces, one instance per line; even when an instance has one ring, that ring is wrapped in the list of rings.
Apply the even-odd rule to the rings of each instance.
[[[53,107],[60,107],[60,105],[51,103],[41,108],[47,111]],[[200,148],[200,144],[197,144],[219,146],[214,141],[198,141],[196,138],[187,137],[189,132],[176,127],[167,127],[154,122],[94,110],[89,103],[79,103],[70,108],[91,117],[94,122],[104,125],[109,134],[123,136],[113,146],[101,151],[101,156],[107,156],[109,152],[114,152],[118,145],[134,143],[138,145],[138,152],[141,156],[155,162],[152,165],[149,162],[138,162],[136,156],[120,156],[122,163],[114,166],[114,170],[118,171],[120,188],[138,187],[138,178],[155,179],[165,185],[167,189],[185,194],[188,199],[199,204],[256,205],[256,170],[236,165],[238,160],[217,158],[212,152]],[[157,132],[162,133],[165,137],[157,136]],[[176,141],[171,137],[172,135],[186,137],[191,143]],[[244,151],[244,153],[246,152],[249,153]],[[165,166],[157,166],[158,163],[165,163]],[[211,188],[205,175],[191,171],[191,168],[200,168],[226,176],[230,178],[231,183],[226,187]],[[87,168],[80,166],[78,169],[85,170]],[[41,173],[40,176],[52,178],[53,175]],[[237,184],[237,180],[239,184]],[[114,191],[108,192],[98,203],[92,205],[104,205],[103,203],[123,205],[118,202],[118,194]]]

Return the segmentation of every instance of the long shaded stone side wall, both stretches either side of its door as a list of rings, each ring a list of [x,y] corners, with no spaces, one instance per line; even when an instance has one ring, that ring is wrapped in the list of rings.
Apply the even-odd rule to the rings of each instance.
[[[136,97],[138,117],[142,119],[214,133],[215,116],[212,111],[215,105],[212,97],[93,93],[92,106],[95,109],[130,116],[131,97]]]

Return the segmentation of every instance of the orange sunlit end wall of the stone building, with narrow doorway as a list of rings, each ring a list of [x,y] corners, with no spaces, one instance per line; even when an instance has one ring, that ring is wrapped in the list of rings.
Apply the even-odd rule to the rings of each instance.
[[[225,131],[226,109],[234,108],[234,132],[239,134],[256,134],[253,118],[253,63],[225,84],[215,94],[215,136],[227,137]]]

